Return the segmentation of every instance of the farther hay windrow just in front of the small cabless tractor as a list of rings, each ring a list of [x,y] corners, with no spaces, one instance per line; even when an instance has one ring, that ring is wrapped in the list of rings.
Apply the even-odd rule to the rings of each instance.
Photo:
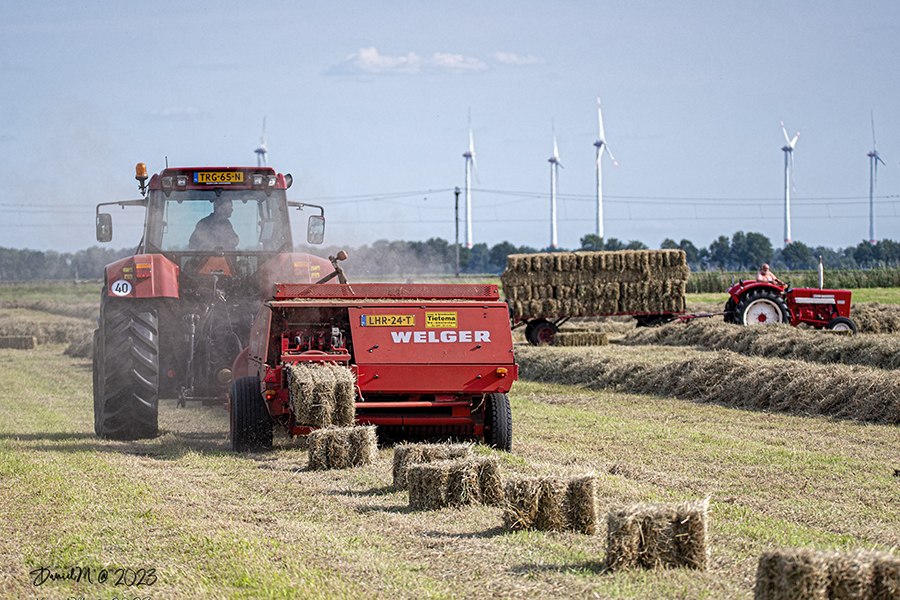
[[[895,335],[829,335],[790,325],[744,327],[719,319],[696,319],[687,324],[635,329],[625,336],[623,343],[700,346],[766,358],[900,368],[900,338]]]

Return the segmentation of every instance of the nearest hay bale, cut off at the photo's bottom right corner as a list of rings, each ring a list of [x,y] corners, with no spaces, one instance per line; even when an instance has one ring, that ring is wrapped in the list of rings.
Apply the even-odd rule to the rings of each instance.
[[[886,552],[783,548],[764,552],[754,600],[900,598],[900,559]]]

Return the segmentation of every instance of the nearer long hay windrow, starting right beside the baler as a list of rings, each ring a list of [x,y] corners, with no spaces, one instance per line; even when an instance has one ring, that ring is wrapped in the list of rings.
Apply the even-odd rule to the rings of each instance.
[[[900,373],[845,365],[710,357],[652,364],[598,350],[517,347],[519,377],[543,383],[676,396],[737,408],[900,424]]]

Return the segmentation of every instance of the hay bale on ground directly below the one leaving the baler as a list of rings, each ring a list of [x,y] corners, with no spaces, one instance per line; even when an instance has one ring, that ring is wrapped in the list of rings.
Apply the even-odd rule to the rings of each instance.
[[[375,427],[327,427],[307,438],[310,471],[349,469],[370,464],[378,454]]]

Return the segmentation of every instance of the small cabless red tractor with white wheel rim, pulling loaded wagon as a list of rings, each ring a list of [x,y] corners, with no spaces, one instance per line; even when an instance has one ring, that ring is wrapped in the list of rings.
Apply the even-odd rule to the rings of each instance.
[[[856,333],[850,319],[849,290],[792,288],[761,281],[739,281],[728,288],[725,321],[739,325],[806,323],[816,329]]]

